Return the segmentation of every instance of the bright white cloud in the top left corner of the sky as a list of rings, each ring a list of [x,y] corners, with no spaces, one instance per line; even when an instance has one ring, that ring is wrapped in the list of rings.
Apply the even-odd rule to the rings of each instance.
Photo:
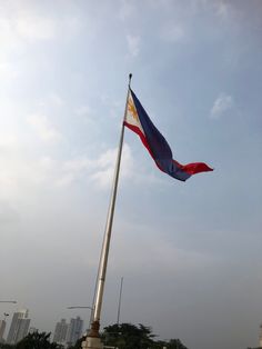
[[[4,1],[0,3],[0,42],[8,49],[23,43],[72,37],[81,28],[79,16],[70,13],[75,7],[63,7],[59,17],[43,11],[33,1]],[[61,10],[61,9],[60,9]],[[66,36],[67,32],[67,36]]]

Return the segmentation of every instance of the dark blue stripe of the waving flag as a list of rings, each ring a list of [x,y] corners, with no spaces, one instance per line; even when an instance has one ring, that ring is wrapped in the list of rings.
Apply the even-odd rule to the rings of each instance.
[[[151,150],[151,154],[159,166],[159,168],[165,173],[177,178],[179,180],[185,181],[191,174],[183,171],[178,164],[173,161],[172,151],[169,147],[169,143],[164,137],[159,132],[153,122],[150,120],[147,111],[143,109],[139,99],[131,90],[132,98],[139,114],[141,126],[143,128],[148,146]]]

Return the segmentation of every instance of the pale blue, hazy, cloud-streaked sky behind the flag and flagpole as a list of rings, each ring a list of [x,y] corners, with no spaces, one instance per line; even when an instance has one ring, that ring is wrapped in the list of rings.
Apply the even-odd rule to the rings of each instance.
[[[54,330],[93,298],[128,76],[181,163],[125,130],[101,326],[258,346],[262,1],[0,1],[0,318]],[[11,316],[10,316],[11,318]],[[9,319],[10,323],[10,319]]]

